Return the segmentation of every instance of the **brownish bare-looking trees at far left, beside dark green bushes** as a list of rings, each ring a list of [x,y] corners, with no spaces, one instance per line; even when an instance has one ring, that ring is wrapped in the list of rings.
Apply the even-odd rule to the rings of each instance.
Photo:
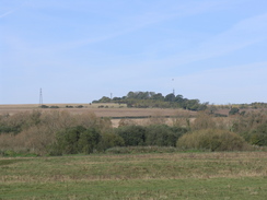
[[[59,132],[68,132],[67,129],[72,130],[78,126],[97,129],[100,132],[112,129],[109,119],[98,118],[93,113],[71,115],[66,110],[34,110],[0,116],[0,152],[13,150],[38,155],[49,154],[51,146],[62,139]],[[62,150],[62,153],[67,152]]]

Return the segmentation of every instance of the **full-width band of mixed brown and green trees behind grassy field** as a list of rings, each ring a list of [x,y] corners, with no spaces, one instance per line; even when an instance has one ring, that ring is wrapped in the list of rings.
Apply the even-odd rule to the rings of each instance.
[[[267,146],[267,113],[249,111],[231,118],[200,111],[195,120],[155,117],[147,126],[93,113],[71,115],[49,110],[0,116],[0,154],[62,155],[111,152],[116,146],[172,146],[179,151],[242,151]]]

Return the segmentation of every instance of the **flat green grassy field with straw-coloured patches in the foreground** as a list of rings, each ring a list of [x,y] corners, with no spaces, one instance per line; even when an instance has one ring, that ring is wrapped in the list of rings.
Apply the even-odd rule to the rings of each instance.
[[[266,197],[266,152],[0,157],[0,199]]]

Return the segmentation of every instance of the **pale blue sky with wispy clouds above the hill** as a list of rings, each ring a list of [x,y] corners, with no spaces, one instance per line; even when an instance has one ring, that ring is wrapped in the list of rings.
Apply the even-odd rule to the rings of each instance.
[[[0,0],[0,104],[155,92],[267,102],[266,0]]]

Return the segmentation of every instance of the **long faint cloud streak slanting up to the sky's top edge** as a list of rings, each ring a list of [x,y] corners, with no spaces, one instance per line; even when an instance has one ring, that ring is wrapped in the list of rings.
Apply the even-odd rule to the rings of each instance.
[[[97,37],[60,43],[48,48],[56,51],[78,48],[95,43],[102,43],[172,19],[182,20],[183,17],[200,14],[207,11],[214,12],[216,10],[221,9],[221,7],[227,3],[229,3],[229,1],[214,2],[209,0],[204,2],[176,3],[171,4],[171,7],[166,7],[165,3],[165,7],[162,7],[162,4],[159,3],[158,5],[152,7],[151,10],[146,10],[146,12],[143,13],[125,16],[112,24],[100,25],[103,26],[102,28],[106,30],[106,32],[103,32],[103,34]]]

